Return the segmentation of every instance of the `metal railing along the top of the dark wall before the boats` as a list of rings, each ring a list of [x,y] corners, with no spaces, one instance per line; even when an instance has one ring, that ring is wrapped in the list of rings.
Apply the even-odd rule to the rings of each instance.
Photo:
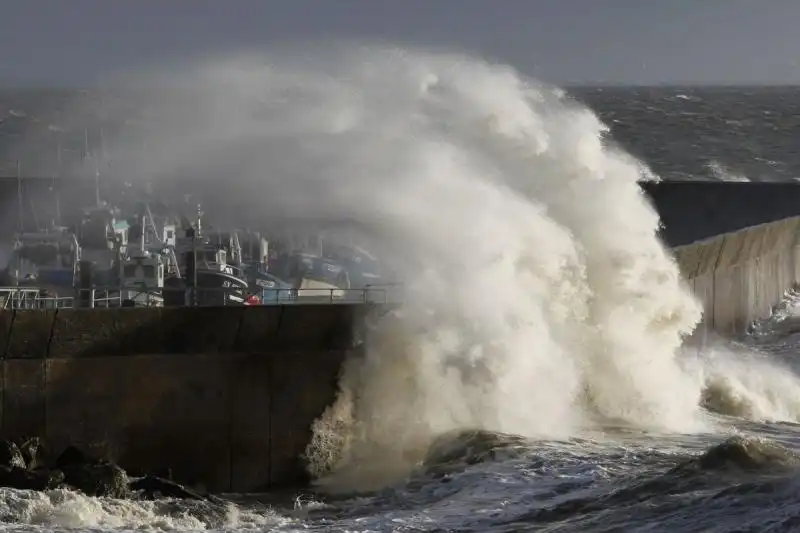
[[[304,305],[304,304],[394,304],[400,303],[401,294],[397,286],[371,286],[360,289],[260,289],[259,301],[248,297],[252,293],[226,288],[197,288],[198,307],[229,305]],[[0,309],[73,309],[73,308],[119,308],[161,307],[163,296],[183,295],[184,289],[165,288],[158,294],[137,287],[94,287],[69,291],[71,296],[50,296],[34,287],[0,287]],[[147,296],[144,302],[137,296]],[[205,297],[204,297],[205,296]],[[210,296],[210,298],[209,298]],[[233,296],[233,298],[231,298]],[[139,300],[142,300],[140,298]],[[241,300],[241,301],[238,301]],[[248,300],[245,303],[245,300]],[[186,298],[187,302],[192,301]],[[184,307],[180,305],[177,307]],[[175,307],[174,305],[171,307]]]

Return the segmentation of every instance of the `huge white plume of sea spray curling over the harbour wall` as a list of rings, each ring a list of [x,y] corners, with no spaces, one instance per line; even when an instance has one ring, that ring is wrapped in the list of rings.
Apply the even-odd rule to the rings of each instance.
[[[109,147],[120,177],[218,178],[217,212],[237,218],[353,221],[405,283],[316,424],[308,456],[332,486],[396,479],[464,428],[695,427],[700,390],[676,350],[700,307],[656,237],[641,165],[562,91],[358,46],[138,79],[148,120]]]

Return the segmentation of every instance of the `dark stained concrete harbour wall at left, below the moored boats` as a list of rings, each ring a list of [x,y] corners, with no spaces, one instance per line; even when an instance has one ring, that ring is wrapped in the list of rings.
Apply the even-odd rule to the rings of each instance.
[[[214,491],[302,481],[367,310],[0,311],[0,428]]]

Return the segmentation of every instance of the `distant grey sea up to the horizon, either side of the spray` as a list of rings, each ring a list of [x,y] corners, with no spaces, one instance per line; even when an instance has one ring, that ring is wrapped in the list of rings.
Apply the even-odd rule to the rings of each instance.
[[[610,127],[611,138],[662,179],[792,180],[800,177],[800,87],[570,87]],[[75,102],[93,100],[75,115]],[[124,132],[103,109],[126,97],[84,90],[0,89],[0,175],[50,177],[104,152]],[[69,115],[67,120],[65,117]],[[122,113],[124,115],[124,113]],[[131,106],[130,121],[136,121]],[[68,123],[67,123],[68,122]],[[25,140],[22,143],[22,140]],[[146,149],[146,147],[143,147]],[[106,161],[113,153],[104,152]]]

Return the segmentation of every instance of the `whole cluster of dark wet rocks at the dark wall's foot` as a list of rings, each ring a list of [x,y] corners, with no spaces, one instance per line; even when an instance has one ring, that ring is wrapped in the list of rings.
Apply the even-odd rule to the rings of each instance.
[[[48,466],[42,441],[36,437],[21,444],[0,441],[0,487],[21,490],[70,488],[87,496],[109,498],[179,498],[213,500],[186,487],[153,475],[130,479],[119,465],[88,456],[74,446],[67,447]]]

